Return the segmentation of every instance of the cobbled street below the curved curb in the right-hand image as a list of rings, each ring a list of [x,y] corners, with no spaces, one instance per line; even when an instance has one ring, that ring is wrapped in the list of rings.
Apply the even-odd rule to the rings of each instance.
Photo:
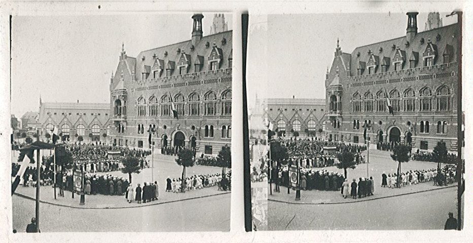
[[[268,202],[269,230],[444,229],[448,212],[457,217],[456,188],[344,205]]]

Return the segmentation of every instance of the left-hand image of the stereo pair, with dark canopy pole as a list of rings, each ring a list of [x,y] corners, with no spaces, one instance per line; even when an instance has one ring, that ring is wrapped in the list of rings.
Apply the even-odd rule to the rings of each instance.
[[[229,231],[232,36],[230,13],[12,16],[12,230]]]

